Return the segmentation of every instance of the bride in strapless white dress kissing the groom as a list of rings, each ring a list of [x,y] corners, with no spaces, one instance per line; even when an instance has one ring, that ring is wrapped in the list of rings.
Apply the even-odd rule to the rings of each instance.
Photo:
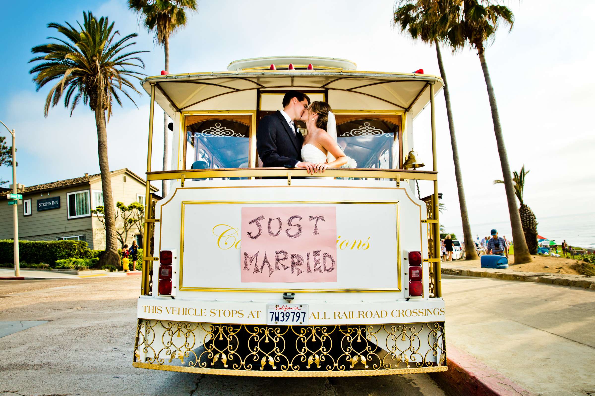
[[[308,128],[302,145],[302,164],[307,166],[299,164],[300,167],[308,173],[322,173],[347,163],[347,156],[337,144],[337,124],[328,103],[312,102],[300,121]]]

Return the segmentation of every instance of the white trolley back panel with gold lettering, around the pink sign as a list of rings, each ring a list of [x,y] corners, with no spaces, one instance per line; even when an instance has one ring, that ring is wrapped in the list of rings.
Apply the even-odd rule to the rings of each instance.
[[[258,204],[184,201],[181,289],[399,289],[399,204],[321,203],[336,210],[336,281],[242,282],[241,221],[246,207],[312,207],[299,202]],[[304,266],[306,267],[306,266]]]

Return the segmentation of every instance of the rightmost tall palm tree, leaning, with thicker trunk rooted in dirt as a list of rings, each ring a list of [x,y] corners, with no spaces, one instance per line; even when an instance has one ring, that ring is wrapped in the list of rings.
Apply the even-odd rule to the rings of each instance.
[[[494,134],[496,134],[496,146],[500,156],[500,166],[508,201],[508,214],[511,218],[512,237],[515,242],[515,264],[522,264],[531,261],[531,254],[527,248],[525,235],[521,226],[521,217],[516,207],[514,187],[512,185],[511,167],[508,163],[508,154],[502,135],[502,125],[496,104],[496,94],[491,84],[490,73],[486,62],[485,43],[494,39],[494,34],[500,23],[508,24],[510,29],[514,23],[512,11],[497,0],[457,0],[459,6],[462,4],[462,18],[459,23],[451,24],[446,33],[446,38],[453,50],[462,48],[467,44],[477,50],[484,80],[486,80],[487,94],[490,100],[491,118],[494,123]]]

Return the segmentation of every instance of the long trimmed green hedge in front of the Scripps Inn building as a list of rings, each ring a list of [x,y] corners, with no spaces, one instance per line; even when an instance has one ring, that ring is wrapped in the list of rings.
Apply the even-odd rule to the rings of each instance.
[[[0,240],[0,264],[14,262],[12,239]],[[87,242],[82,240],[19,240],[18,255],[21,261],[46,263],[54,267],[55,262],[67,258],[91,258]]]

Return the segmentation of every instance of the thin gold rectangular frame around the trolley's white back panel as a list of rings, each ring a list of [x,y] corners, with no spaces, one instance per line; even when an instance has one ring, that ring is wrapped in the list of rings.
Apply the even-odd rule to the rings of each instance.
[[[166,202],[167,203],[167,202]],[[182,284],[184,275],[184,212],[185,205],[226,205],[226,204],[376,204],[376,205],[394,205],[396,217],[396,242],[397,242],[397,289],[236,289],[233,287],[184,287]],[[420,209],[421,211],[421,209]],[[400,227],[399,227],[399,201],[378,202],[378,201],[181,201],[180,211],[180,276],[178,290],[180,292],[256,292],[256,293],[342,293],[342,292],[365,292],[365,293],[400,293],[402,291],[401,275],[401,254],[400,251]],[[159,229],[161,232],[161,229]],[[161,246],[161,239],[159,239]]]

